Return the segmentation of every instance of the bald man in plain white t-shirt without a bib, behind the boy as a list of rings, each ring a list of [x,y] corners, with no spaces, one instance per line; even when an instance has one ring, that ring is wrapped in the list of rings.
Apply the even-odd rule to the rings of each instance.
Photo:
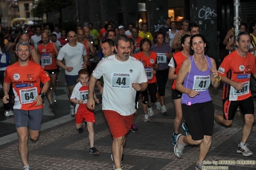
[[[88,56],[85,45],[76,43],[76,33],[69,31],[67,33],[69,43],[64,45],[58,52],[56,64],[65,69],[65,79],[69,88],[69,98],[72,95],[74,86],[78,82],[78,72],[81,68],[87,68]],[[62,60],[65,59],[65,65]],[[70,105],[70,114],[74,116],[74,105]]]

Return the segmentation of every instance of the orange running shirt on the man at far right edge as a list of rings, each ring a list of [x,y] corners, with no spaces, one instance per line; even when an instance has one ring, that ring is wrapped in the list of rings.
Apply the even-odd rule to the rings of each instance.
[[[252,73],[256,73],[255,61],[255,57],[250,52],[247,52],[246,57],[243,58],[237,54],[237,50],[224,58],[218,69],[219,75],[225,76],[232,81],[243,83],[244,88],[236,90],[233,86],[223,84],[223,99],[240,101],[252,96],[250,77]]]

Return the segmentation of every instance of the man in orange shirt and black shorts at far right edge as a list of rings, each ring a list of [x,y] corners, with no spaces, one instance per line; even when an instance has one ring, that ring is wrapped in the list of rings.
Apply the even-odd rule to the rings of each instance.
[[[241,143],[237,153],[248,157],[253,155],[247,146],[254,122],[254,105],[250,90],[250,79],[256,78],[256,59],[249,51],[250,35],[241,32],[237,35],[237,50],[226,56],[219,66],[218,72],[223,84],[223,115],[215,114],[215,120],[230,127],[233,123],[237,107],[240,107],[244,117]]]

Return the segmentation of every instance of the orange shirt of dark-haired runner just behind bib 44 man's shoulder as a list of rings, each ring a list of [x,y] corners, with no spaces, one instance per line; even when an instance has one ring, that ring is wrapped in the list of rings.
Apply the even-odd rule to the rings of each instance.
[[[148,78],[148,83],[157,82],[157,77],[152,71],[155,69],[155,64],[157,64],[157,53],[151,51],[149,58],[144,56],[143,52],[139,52],[134,55],[134,57],[140,61],[144,65],[144,69]]]

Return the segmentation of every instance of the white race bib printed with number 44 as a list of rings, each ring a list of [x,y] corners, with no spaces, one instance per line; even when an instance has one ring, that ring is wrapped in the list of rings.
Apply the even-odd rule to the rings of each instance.
[[[111,86],[112,88],[130,88],[131,79],[130,73],[112,73]]]

